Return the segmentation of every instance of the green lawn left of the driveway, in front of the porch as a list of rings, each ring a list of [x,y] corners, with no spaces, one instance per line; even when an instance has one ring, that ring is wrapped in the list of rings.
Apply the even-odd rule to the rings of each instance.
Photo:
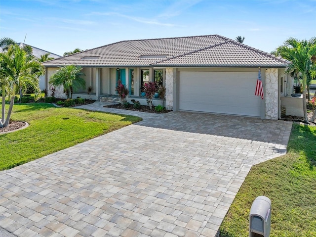
[[[0,170],[38,159],[141,120],[135,116],[57,108],[46,103],[15,104],[11,118],[26,121],[30,126],[0,135]]]

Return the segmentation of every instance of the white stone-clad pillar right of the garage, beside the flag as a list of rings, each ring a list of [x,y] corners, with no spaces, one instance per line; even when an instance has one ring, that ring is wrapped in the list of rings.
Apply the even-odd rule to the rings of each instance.
[[[268,68],[265,70],[266,90],[265,103],[266,119],[278,119],[278,72],[277,68]]]

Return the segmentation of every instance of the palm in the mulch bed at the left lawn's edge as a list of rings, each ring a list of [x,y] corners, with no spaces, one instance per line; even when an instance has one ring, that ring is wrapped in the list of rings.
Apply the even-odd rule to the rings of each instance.
[[[6,127],[10,121],[16,88],[27,85],[28,87],[33,88],[35,93],[40,93],[39,75],[33,72],[42,72],[43,66],[37,60],[29,61],[27,53],[18,45],[11,45],[6,52],[1,53],[1,58],[1,88],[3,88],[4,82],[7,79],[9,86],[12,89],[11,101],[6,119],[4,119],[4,116],[2,115],[2,119],[5,121],[3,127]]]

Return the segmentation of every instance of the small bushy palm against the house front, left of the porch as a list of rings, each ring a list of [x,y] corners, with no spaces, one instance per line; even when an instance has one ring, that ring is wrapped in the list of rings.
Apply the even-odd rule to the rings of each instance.
[[[82,67],[67,65],[59,67],[59,70],[51,76],[49,84],[55,87],[64,87],[67,98],[73,97],[73,92],[85,87],[85,76],[81,72]]]

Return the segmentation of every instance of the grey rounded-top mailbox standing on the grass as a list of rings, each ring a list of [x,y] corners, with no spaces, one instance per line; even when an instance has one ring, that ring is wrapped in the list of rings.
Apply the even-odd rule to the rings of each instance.
[[[269,237],[271,229],[271,200],[258,196],[249,214],[249,237]]]

